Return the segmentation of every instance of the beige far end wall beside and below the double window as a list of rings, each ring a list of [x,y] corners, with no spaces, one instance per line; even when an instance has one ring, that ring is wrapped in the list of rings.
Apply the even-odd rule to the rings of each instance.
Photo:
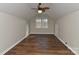
[[[54,34],[54,20],[48,18],[48,28],[36,28],[35,18],[32,18],[30,21],[30,34]]]

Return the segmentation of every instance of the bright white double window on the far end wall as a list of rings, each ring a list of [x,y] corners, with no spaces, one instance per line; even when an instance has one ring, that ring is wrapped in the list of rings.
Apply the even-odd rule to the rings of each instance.
[[[48,28],[48,19],[36,19],[36,28]]]

